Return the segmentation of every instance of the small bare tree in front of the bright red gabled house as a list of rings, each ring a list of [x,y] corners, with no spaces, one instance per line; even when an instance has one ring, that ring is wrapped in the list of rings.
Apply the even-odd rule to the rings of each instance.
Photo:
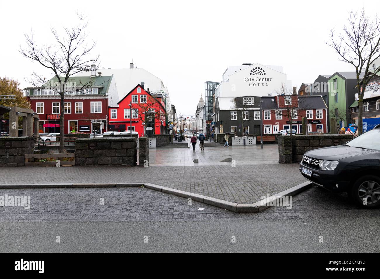
[[[145,122],[144,135],[146,135],[148,122],[155,121],[155,119],[166,121],[166,116],[168,116],[168,113],[164,112],[165,109],[160,99],[161,98],[155,98],[154,95],[152,96],[150,94],[147,94],[146,102],[132,104],[131,117],[133,113],[135,115],[135,118],[140,119],[142,122]]]

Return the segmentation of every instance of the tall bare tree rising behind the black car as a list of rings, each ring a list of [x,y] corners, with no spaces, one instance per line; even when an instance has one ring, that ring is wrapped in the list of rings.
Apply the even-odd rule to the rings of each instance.
[[[363,132],[363,97],[364,88],[379,71],[380,66],[370,71],[370,66],[380,57],[380,19],[369,19],[364,9],[359,14],[351,11],[348,17],[348,26],[343,33],[335,36],[330,30],[330,41],[326,42],[340,56],[340,60],[351,64],[356,70],[356,88],[359,97],[358,126],[359,135]]]

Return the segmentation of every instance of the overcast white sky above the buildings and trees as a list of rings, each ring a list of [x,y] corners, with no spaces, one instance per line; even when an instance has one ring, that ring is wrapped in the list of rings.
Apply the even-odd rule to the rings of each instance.
[[[2,2],[0,77],[19,80],[33,70],[51,77],[19,53],[24,32],[51,42],[50,28],[77,24],[75,12],[89,20],[89,39],[100,66],[135,66],[160,77],[177,112],[195,114],[206,80],[220,82],[228,66],[242,63],[281,65],[293,86],[320,74],[354,71],[325,45],[348,12],[378,1],[6,1]]]

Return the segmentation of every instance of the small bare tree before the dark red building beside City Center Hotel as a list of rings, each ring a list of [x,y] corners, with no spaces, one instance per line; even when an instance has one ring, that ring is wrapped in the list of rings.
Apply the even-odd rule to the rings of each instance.
[[[279,104],[278,110],[275,111],[276,116],[289,119],[290,135],[293,135],[293,121],[298,119],[299,110],[308,110],[311,107],[311,103],[307,97],[298,97],[294,94],[293,89],[288,89],[283,83],[281,87],[276,91],[277,96],[280,96],[280,101],[283,99],[284,104]],[[277,117],[276,117],[277,118]]]

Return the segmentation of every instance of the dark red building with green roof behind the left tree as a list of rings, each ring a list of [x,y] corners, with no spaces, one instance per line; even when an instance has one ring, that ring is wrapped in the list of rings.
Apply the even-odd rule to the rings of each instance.
[[[56,81],[53,78],[52,81]],[[103,133],[107,130],[108,106],[117,97],[113,76],[71,77],[70,82],[80,86],[89,84],[82,90],[66,92],[64,107],[60,106],[60,94],[49,87],[24,88],[26,98],[33,111],[38,114],[40,133],[59,133],[60,127],[45,124],[60,124],[60,112],[64,110],[64,133]],[[51,126],[51,127],[46,127]]]

